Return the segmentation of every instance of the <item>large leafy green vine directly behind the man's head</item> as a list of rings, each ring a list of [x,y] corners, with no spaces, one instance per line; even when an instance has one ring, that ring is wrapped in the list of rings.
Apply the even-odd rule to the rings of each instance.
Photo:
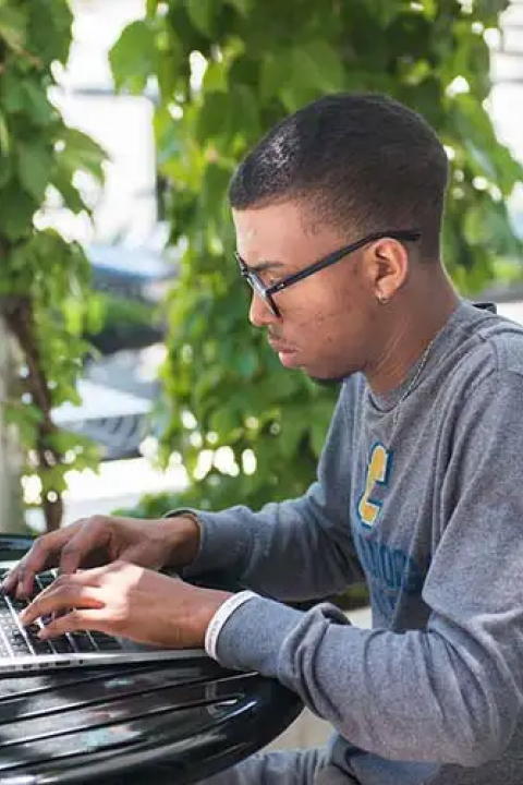
[[[179,502],[220,508],[299,495],[314,476],[333,392],[280,367],[246,319],[226,200],[243,154],[321,94],[387,93],[425,116],[452,179],[445,258],[464,292],[520,250],[506,200],[521,168],[487,113],[489,51],[507,0],[149,0],[112,50],[122,89],[158,87],[159,171],[171,243],[185,242],[169,299],[157,423],[163,460],[183,456]],[[224,463],[223,459],[228,461]],[[253,471],[256,467],[256,471]],[[146,499],[159,512],[172,498]]]

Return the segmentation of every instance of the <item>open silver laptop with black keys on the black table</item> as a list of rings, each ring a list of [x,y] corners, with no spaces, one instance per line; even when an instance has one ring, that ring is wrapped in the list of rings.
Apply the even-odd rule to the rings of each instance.
[[[0,561],[0,581],[15,564],[16,559]],[[34,596],[54,578],[56,570],[38,573]],[[204,649],[162,649],[97,631],[78,631],[39,640],[37,633],[44,626],[41,619],[29,627],[24,627],[19,619],[19,613],[29,602],[31,597],[19,600],[0,587],[0,676],[11,673],[31,675],[51,668],[207,657]]]

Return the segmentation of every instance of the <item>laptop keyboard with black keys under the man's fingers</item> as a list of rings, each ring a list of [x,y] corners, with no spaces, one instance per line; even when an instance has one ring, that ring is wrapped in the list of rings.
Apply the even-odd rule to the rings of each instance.
[[[0,581],[7,570],[0,569]],[[52,570],[40,572],[35,578],[36,590],[33,596],[48,587],[56,578]],[[52,654],[74,654],[77,652],[118,652],[122,650],[119,640],[97,631],[68,632],[50,640],[39,640],[38,632],[44,621],[38,620],[28,627],[23,627],[19,620],[19,613],[31,602],[19,600],[5,594],[0,589],[0,659]]]

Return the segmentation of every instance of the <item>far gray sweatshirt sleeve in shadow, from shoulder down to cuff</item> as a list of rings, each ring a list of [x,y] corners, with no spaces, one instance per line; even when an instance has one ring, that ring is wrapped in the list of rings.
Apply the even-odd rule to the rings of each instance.
[[[200,548],[184,577],[220,571],[260,594],[288,601],[338,593],[363,580],[348,520],[349,395],[340,396],[317,481],[303,497],[267,504],[258,512],[245,506],[190,510],[200,527]]]

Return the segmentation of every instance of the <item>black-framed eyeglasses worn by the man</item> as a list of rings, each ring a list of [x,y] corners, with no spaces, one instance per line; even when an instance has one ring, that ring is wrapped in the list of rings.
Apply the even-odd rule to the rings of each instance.
[[[280,310],[273,300],[273,295],[277,292],[280,292],[283,289],[288,289],[293,283],[297,283],[297,281],[301,281],[304,278],[308,278],[308,276],[318,273],[325,267],[330,267],[330,265],[336,264],[340,259],[348,256],[350,253],[358,251],[364,245],[368,245],[368,243],[375,242],[376,240],[384,240],[385,238],[390,238],[391,240],[399,240],[400,242],[415,242],[416,240],[419,240],[421,235],[422,234],[417,229],[382,231],[375,232],[374,234],[367,234],[366,237],[362,238],[361,240],[356,240],[356,242],[353,242],[350,245],[345,245],[338,251],[333,251],[328,256],[325,256],[318,262],[314,262],[312,265],[308,265],[308,267],[304,267],[299,273],[293,273],[287,278],[282,278],[281,281],[270,283],[269,286],[265,286],[258,274],[255,270],[250,269],[250,267],[239,253],[234,254],[234,258],[240,265],[240,273],[242,274],[243,278],[245,278],[247,283],[250,283],[253,291],[258,294],[258,297],[260,297],[264,302],[267,303],[273,315],[279,317],[281,316]]]

